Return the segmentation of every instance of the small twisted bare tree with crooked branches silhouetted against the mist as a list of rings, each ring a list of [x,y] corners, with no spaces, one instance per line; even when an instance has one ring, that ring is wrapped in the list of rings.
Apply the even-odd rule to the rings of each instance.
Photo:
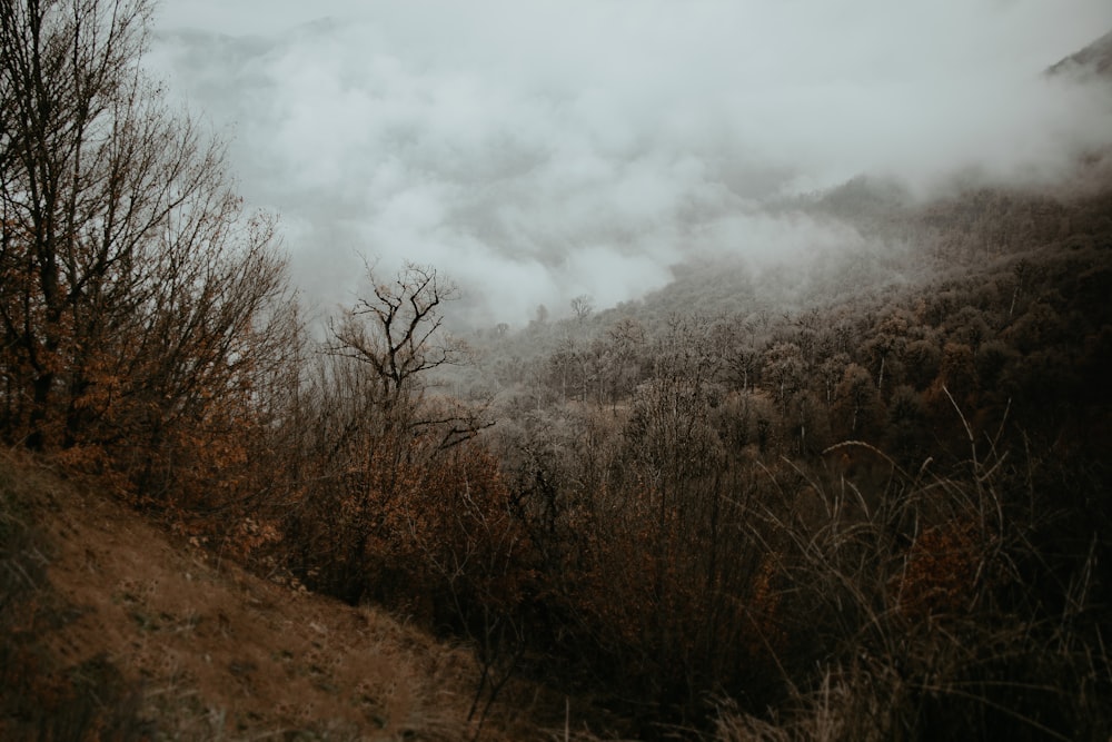
[[[414,564],[445,546],[436,528],[458,525],[464,511],[449,508],[433,524],[433,509],[476,484],[460,475],[456,487],[448,472],[470,455],[457,446],[487,424],[481,409],[429,393],[431,374],[467,358],[444,327],[455,286],[411,264],[388,280],[370,267],[368,276],[368,295],[331,321],[300,399],[307,494],[288,531],[316,584],[346,600],[390,603],[415,597]],[[441,502],[434,492],[447,494]],[[438,535],[423,542],[433,525]]]

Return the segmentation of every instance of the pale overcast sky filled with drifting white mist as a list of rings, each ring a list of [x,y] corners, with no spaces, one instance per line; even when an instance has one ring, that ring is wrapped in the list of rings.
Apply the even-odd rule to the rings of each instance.
[[[1052,179],[1112,142],[1108,86],[1040,75],[1108,0],[162,0],[157,29],[326,311],[360,255],[436,266],[484,321],[609,306],[693,251],[856,239],[772,195]]]

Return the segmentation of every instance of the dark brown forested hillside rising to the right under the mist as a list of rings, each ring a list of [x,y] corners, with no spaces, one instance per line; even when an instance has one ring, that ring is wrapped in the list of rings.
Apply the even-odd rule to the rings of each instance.
[[[971,191],[895,212],[894,255],[699,267],[496,342],[488,437],[568,682],[834,725],[805,736],[1099,738],[1070,708],[1104,665],[1060,642],[1106,617],[1110,202]]]

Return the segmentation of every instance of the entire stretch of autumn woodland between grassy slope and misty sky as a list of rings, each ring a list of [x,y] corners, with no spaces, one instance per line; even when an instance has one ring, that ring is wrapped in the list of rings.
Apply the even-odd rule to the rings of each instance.
[[[865,247],[518,326],[369,269],[317,340],[146,3],[0,7],[7,445],[468,643],[476,718],[527,679],[603,738],[1112,733],[1112,154],[856,179],[770,208]]]

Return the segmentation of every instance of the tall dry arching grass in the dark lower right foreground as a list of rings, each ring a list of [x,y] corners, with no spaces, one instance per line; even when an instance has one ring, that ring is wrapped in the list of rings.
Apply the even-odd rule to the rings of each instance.
[[[845,479],[812,479],[817,525],[765,509],[753,532],[794,637],[777,657],[786,701],[763,715],[723,702],[717,740],[1110,738],[1100,518],[1063,533],[1068,483],[962,423],[970,455],[945,475],[890,461],[872,507]]]

